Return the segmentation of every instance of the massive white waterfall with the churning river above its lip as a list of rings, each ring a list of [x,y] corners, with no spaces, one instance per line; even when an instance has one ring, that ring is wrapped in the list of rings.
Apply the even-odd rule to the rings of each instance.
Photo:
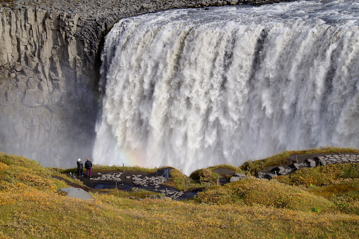
[[[324,0],[120,20],[102,53],[95,162],[190,173],[359,147],[358,19],[355,1]]]

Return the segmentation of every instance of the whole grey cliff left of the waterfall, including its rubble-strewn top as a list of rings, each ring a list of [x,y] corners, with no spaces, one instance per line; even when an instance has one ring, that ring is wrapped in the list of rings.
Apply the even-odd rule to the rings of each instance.
[[[0,3],[0,150],[53,167],[91,155],[100,102],[99,47],[117,19],[171,8],[278,1]]]

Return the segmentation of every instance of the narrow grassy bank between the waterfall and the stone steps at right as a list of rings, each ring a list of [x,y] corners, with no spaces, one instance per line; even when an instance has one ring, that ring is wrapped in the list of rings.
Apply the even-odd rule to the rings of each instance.
[[[249,171],[252,175],[258,173],[259,170],[263,167],[271,167],[271,166],[281,166],[286,164],[291,164],[295,161],[295,157],[288,159],[290,155],[298,154],[298,155],[308,155],[323,152],[327,154],[338,153],[339,147],[335,146],[325,146],[325,147],[313,147],[311,149],[305,150],[285,150],[279,154],[274,154],[273,156],[262,158],[258,160],[248,160],[245,161],[240,168],[243,171]],[[359,149],[354,149],[353,147],[347,146],[346,148],[340,148],[340,153],[359,153]]]

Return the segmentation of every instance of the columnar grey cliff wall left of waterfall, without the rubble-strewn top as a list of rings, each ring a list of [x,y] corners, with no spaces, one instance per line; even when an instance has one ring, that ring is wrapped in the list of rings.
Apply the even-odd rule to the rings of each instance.
[[[95,50],[75,37],[79,15],[21,8],[0,17],[0,149],[65,167],[89,157]]]

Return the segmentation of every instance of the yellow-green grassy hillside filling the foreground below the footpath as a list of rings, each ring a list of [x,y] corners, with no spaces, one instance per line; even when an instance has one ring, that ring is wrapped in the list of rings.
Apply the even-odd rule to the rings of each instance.
[[[94,200],[82,201],[58,195],[66,184],[51,173],[35,161],[0,154],[1,239],[359,238],[359,216],[333,200],[353,194],[324,197],[316,187],[252,178],[209,187],[183,202],[96,192],[90,192]]]

